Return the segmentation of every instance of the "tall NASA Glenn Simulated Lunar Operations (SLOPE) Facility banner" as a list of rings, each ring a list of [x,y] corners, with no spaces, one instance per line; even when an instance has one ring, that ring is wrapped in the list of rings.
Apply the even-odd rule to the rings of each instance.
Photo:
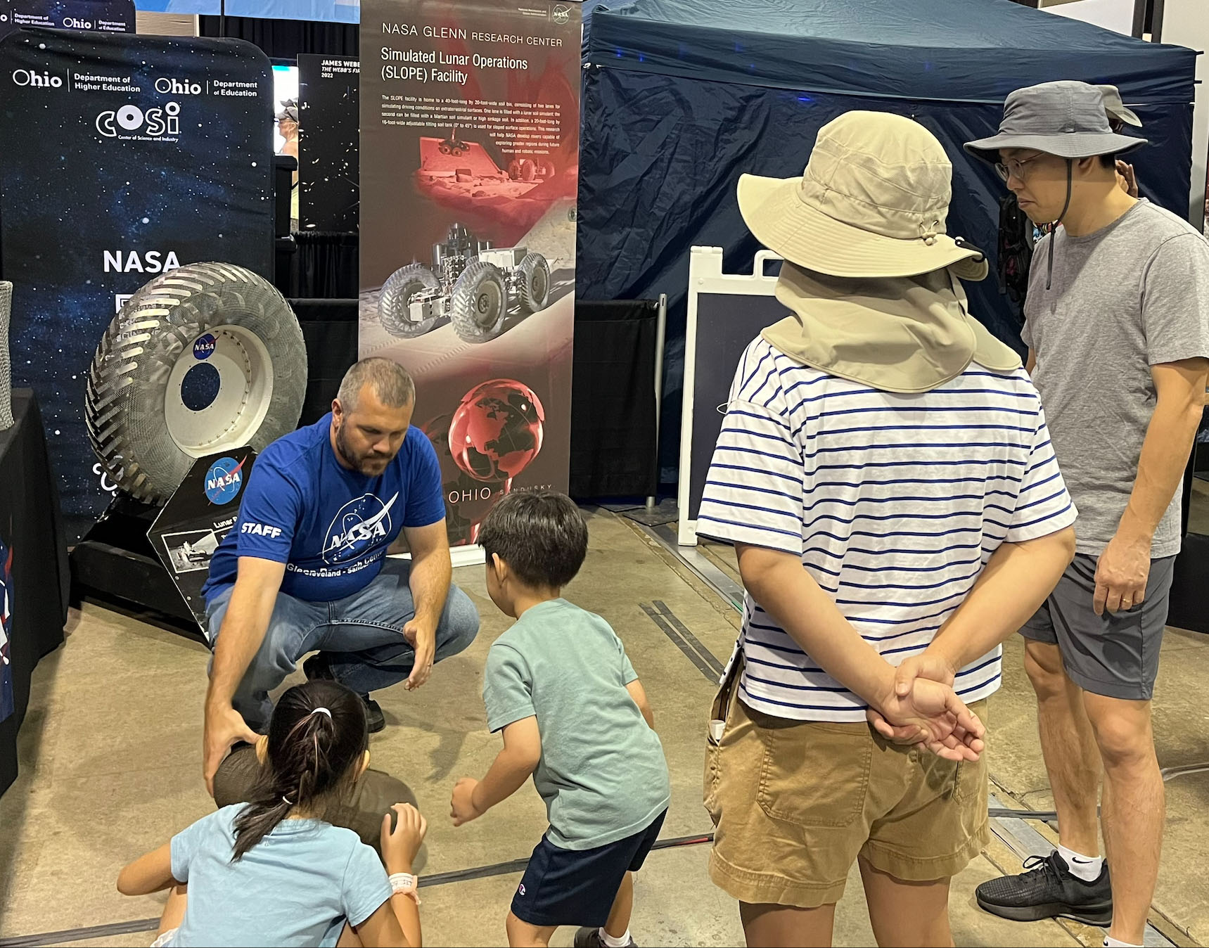
[[[450,542],[567,489],[579,4],[361,4],[360,354],[416,381]]]

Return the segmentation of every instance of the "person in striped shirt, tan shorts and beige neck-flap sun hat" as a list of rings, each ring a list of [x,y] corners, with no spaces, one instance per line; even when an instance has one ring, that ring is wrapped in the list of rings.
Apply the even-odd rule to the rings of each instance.
[[[739,185],[793,312],[739,360],[696,521],[748,590],[705,802],[750,944],[829,943],[855,860],[879,943],[953,943],[1000,643],[1074,555],[1037,393],[966,312],[950,175],[921,126],[849,112],[800,179]]]

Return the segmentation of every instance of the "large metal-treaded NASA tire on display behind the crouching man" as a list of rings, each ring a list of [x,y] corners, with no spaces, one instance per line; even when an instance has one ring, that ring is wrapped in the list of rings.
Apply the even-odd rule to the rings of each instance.
[[[183,386],[212,366],[193,410]],[[293,432],[306,394],[297,318],[268,281],[231,264],[189,264],[135,293],[102,336],[85,395],[88,440],[135,499],[167,501],[193,461]]]

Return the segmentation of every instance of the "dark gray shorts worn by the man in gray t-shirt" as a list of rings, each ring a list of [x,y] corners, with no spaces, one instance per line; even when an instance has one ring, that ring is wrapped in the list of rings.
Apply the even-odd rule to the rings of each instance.
[[[1020,635],[1049,642],[1062,652],[1066,677],[1092,694],[1149,701],[1158,675],[1172,592],[1174,556],[1150,561],[1146,599],[1128,612],[1097,615],[1097,557],[1076,554],[1058,588],[1034,614]]]

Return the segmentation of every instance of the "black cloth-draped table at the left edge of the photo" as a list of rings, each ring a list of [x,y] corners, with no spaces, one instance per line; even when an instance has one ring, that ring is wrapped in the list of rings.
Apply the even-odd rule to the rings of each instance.
[[[13,689],[13,712],[0,721],[0,793],[17,779],[17,732],[30,676],[42,655],[63,642],[68,609],[59,496],[34,393],[15,391],[12,414],[16,424],[0,432],[0,538],[12,553],[7,651]]]

